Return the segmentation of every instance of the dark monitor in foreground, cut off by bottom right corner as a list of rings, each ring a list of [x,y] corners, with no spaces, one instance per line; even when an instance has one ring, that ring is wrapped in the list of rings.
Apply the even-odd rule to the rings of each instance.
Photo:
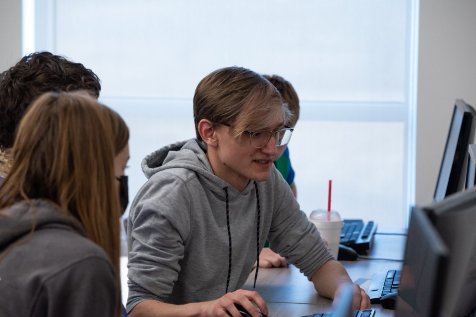
[[[476,308],[476,187],[423,210],[450,250],[439,316],[468,316]]]

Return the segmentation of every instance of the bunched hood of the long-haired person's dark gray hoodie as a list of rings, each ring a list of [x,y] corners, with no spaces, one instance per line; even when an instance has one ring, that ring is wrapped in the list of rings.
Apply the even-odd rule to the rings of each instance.
[[[60,213],[60,207],[45,200],[20,201],[0,211],[0,253],[8,246],[35,231],[51,226],[68,226],[85,236],[80,222]]]

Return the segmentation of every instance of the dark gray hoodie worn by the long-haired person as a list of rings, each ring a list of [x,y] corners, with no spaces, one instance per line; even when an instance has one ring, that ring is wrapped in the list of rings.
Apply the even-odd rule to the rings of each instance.
[[[104,250],[57,206],[30,202],[0,212],[0,316],[113,316],[119,299]]]

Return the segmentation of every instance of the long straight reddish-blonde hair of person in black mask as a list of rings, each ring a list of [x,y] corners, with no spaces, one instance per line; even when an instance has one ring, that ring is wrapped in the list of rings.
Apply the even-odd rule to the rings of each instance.
[[[120,206],[112,116],[110,108],[84,92],[42,95],[20,122],[14,161],[0,185],[0,209],[45,199],[79,220],[116,269],[120,316]]]

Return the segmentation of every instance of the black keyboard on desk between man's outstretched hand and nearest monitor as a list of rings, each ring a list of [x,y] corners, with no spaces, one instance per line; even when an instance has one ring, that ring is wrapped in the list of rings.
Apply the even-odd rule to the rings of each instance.
[[[393,292],[398,292],[400,288],[401,269],[391,269],[373,275],[368,287],[368,296],[371,304],[379,304],[380,297]]]

